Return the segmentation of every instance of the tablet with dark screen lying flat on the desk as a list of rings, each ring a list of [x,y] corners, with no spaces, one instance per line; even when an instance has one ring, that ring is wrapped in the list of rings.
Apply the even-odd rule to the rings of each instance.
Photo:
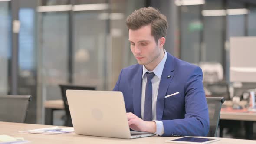
[[[171,143],[183,143],[183,144],[208,144],[214,141],[219,141],[217,138],[200,138],[200,137],[181,137],[173,140],[167,140],[165,142]]]

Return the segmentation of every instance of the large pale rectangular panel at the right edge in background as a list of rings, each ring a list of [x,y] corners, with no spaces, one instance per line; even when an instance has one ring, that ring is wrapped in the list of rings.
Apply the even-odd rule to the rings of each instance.
[[[230,38],[230,82],[256,82],[256,37]]]

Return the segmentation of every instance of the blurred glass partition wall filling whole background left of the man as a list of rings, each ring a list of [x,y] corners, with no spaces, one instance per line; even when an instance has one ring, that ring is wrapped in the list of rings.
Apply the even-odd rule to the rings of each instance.
[[[112,90],[135,63],[125,18],[144,1],[0,0],[0,94],[32,95],[26,123],[44,124],[59,84]]]

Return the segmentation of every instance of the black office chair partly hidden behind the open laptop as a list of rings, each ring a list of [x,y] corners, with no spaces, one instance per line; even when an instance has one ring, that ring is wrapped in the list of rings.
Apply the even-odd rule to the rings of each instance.
[[[66,113],[65,123],[64,126],[72,127],[72,119],[69,111],[69,104],[66,96],[66,90],[74,89],[74,90],[95,90],[95,87],[85,87],[85,86],[78,86],[78,85],[59,85],[61,89],[62,99],[64,101],[64,108]]]

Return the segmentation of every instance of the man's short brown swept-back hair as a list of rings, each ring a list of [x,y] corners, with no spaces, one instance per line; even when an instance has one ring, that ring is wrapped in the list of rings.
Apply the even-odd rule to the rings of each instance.
[[[156,43],[161,37],[166,37],[168,22],[166,16],[153,7],[143,7],[131,13],[125,21],[128,29],[137,30],[151,24],[151,34]]]

